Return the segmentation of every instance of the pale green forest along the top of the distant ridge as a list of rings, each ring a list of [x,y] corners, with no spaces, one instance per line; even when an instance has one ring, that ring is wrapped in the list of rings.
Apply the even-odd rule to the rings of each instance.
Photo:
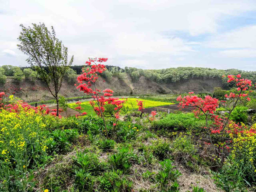
[[[14,73],[7,70],[6,67],[10,65],[3,65],[0,68],[5,70],[4,74],[6,76],[13,76]],[[82,68],[86,67],[84,65],[74,65],[71,66],[71,69],[68,71],[67,77],[75,81],[77,74],[82,73]],[[157,83],[174,83],[179,81],[185,81],[191,78],[218,78],[221,79],[222,75],[229,74],[241,74],[244,78],[256,82],[256,71],[243,71],[237,69],[228,69],[228,70],[218,70],[216,68],[202,68],[202,67],[177,67],[177,68],[166,68],[161,70],[142,70],[135,67],[124,67],[120,68],[118,66],[107,65],[107,70],[104,71],[101,76],[103,76],[107,81],[111,81],[112,77],[117,77],[119,79],[131,78],[134,81],[138,81],[141,76],[146,77],[149,80],[155,81]],[[16,67],[17,68],[17,67]],[[20,67],[22,71],[26,68],[31,67]],[[33,68],[32,68],[33,70]],[[3,71],[3,70],[2,70]],[[223,84],[226,83],[226,79],[223,79]],[[232,85],[231,85],[232,86]],[[228,88],[228,87],[226,87]]]

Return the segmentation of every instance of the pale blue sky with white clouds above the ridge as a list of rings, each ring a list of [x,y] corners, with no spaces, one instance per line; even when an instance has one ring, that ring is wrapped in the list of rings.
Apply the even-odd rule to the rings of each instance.
[[[44,22],[74,55],[107,65],[256,71],[255,0],[0,0],[0,66],[28,66],[20,24]]]

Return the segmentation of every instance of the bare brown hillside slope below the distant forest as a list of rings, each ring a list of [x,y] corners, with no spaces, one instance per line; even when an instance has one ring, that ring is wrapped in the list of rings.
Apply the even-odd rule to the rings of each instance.
[[[194,91],[195,93],[213,92],[214,87],[222,87],[221,79],[189,79],[187,81],[175,83],[156,83],[145,77],[140,77],[136,82],[130,78],[113,78],[111,82],[103,82],[99,79],[98,89],[112,89],[115,93],[122,94],[179,94]],[[20,89],[21,88],[21,89]],[[0,85],[0,92],[4,91],[8,95],[15,95],[26,102],[42,101],[54,99],[44,82],[36,80],[35,83],[29,80],[22,80],[15,83],[13,78],[7,77],[5,85]],[[73,83],[63,81],[60,95],[64,97],[84,96],[83,92],[76,89]]]

